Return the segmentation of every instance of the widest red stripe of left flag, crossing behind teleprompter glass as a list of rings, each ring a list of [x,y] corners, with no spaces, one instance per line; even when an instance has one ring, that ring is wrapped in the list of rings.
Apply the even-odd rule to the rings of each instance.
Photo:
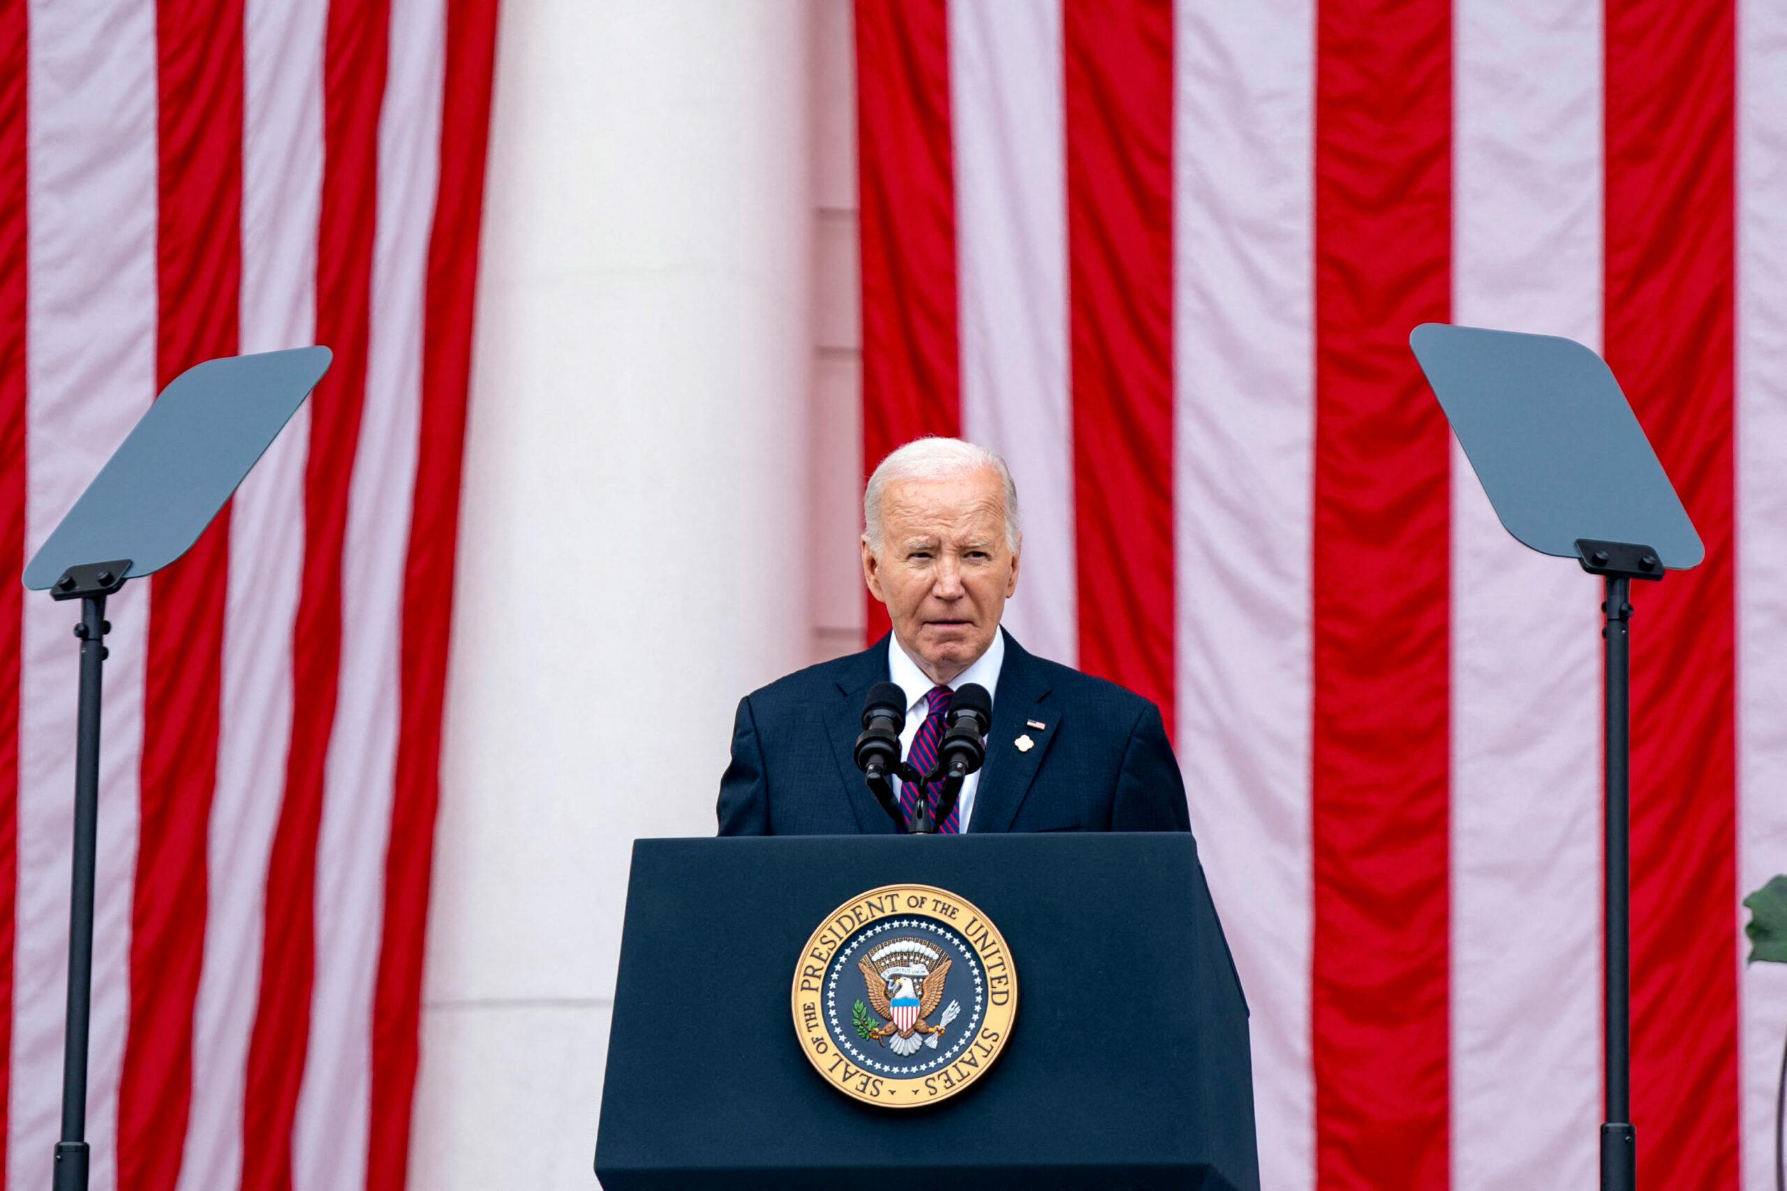
[[[157,388],[238,351],[241,21],[241,0],[161,0],[157,9]],[[229,506],[155,576],[148,604],[130,1028],[118,1089],[118,1177],[145,1191],[179,1180],[191,1109],[227,574]]]

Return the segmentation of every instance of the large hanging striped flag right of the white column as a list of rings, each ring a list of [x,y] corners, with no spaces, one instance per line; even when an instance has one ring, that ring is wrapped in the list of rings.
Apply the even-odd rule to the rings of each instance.
[[[1174,728],[1265,1186],[1596,1184],[1599,583],[1426,320],[1598,347],[1707,542],[1633,597],[1633,1118],[1646,1186],[1773,1186],[1787,4],[863,0],[856,55],[863,456],[1003,452],[1008,624]]]

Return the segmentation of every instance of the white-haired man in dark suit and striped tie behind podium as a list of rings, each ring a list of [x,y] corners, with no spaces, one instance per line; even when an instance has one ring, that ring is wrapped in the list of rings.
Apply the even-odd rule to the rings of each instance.
[[[895,832],[852,753],[863,701],[886,681],[906,703],[901,749],[919,760],[936,755],[958,688],[992,696],[985,765],[938,832],[1190,830],[1160,710],[999,626],[1024,544],[1004,460],[960,438],[910,442],[868,477],[863,522],[863,581],[894,631],[738,703],[720,835]],[[938,789],[894,783],[902,803],[938,805]]]

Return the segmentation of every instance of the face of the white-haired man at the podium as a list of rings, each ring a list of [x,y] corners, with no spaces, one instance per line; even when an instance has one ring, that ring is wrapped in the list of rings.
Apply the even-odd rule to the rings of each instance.
[[[974,665],[1017,590],[999,472],[888,485],[881,553],[863,538],[863,579],[888,606],[899,644],[933,681],[949,683]]]

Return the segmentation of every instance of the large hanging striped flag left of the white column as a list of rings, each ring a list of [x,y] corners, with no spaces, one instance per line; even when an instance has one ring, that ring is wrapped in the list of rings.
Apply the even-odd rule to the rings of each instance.
[[[4,1180],[61,1096],[75,608],[16,579],[163,384],[334,368],[113,597],[95,1187],[400,1187],[495,0],[0,0]]]

